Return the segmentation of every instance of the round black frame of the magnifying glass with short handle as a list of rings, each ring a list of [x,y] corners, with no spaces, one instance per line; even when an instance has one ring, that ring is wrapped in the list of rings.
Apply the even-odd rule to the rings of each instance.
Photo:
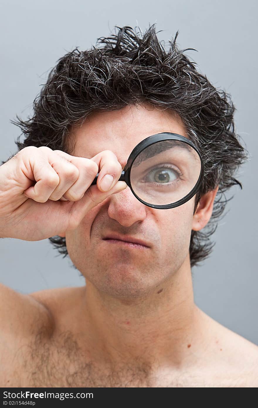
[[[192,190],[185,197],[183,197],[181,200],[178,200],[178,201],[176,201],[174,203],[171,203],[171,204],[164,204],[164,205],[150,204],[150,203],[147,203],[147,202],[141,200],[141,198],[138,197],[138,195],[134,192],[134,190],[132,188],[132,185],[131,185],[131,180],[130,180],[131,169],[132,169],[132,165],[135,162],[135,159],[137,158],[137,156],[144,149],[146,149],[146,147],[151,146],[152,144],[155,144],[155,143],[158,143],[158,142],[162,142],[164,140],[179,140],[180,142],[184,142],[184,143],[188,144],[189,146],[191,146],[198,153],[198,156],[200,157],[201,171],[200,171],[199,178],[198,178],[194,188],[192,188]],[[97,184],[98,175],[99,175],[99,173],[97,173],[97,175],[96,175],[95,179],[93,180],[93,182],[91,183],[91,185]],[[126,184],[130,187],[130,190],[132,191],[133,195],[135,195],[137,200],[139,200],[144,205],[146,205],[148,207],[151,207],[151,208],[157,208],[157,209],[160,209],[160,210],[165,210],[165,209],[168,209],[168,208],[178,207],[178,206],[180,206],[182,204],[185,204],[188,200],[190,200],[194,196],[194,194],[196,194],[196,192],[198,191],[198,188],[201,186],[201,182],[203,181],[203,175],[204,175],[204,165],[203,165],[203,159],[201,157],[201,153],[198,151],[197,147],[191,142],[191,140],[187,139],[187,137],[185,137],[185,136],[178,135],[177,133],[162,132],[162,133],[156,133],[155,135],[148,136],[146,139],[144,139],[140,143],[138,143],[137,146],[135,146],[135,148],[130,153],[130,156],[128,157],[127,163],[124,166],[124,169],[123,169],[123,171],[121,173],[119,181],[126,182]]]

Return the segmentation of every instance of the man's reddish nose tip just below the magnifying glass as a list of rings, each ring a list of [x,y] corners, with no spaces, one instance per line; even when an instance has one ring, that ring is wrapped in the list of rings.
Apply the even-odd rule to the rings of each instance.
[[[135,195],[133,195],[130,187],[120,193],[110,195],[108,205],[108,215],[119,224],[129,227],[135,222],[143,221],[146,218],[146,209]]]

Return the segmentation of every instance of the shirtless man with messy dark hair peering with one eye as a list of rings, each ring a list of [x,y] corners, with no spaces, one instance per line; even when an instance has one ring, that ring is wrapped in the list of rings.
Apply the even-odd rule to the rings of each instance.
[[[121,34],[124,42],[121,41]],[[153,50],[158,49],[153,26],[147,34],[149,36],[145,37],[144,47],[141,44],[141,52],[143,49],[148,51],[139,54],[137,67],[145,57],[144,63],[153,78],[154,56],[157,57]],[[127,44],[126,39],[135,39],[134,35],[128,27],[120,29],[120,47]],[[135,47],[135,54],[131,51],[130,58],[138,55],[139,51],[135,42],[132,46]],[[150,46],[152,54],[148,48]],[[95,50],[95,53],[99,52]],[[116,47],[114,52],[120,55],[121,49]],[[158,52],[164,51],[159,49]],[[121,55],[124,56],[124,53],[121,52]],[[180,55],[182,54],[176,49],[174,42],[174,60],[171,59],[169,63],[170,67],[178,70],[178,78],[183,81],[183,69],[186,68],[180,67]],[[46,108],[47,97],[43,93],[41,95],[49,127],[43,116],[39,120],[43,105],[38,104],[35,106],[34,118],[26,122],[27,129],[30,126],[31,132],[26,133],[29,135],[26,142],[19,145],[19,153],[0,166],[0,237],[27,241],[54,236],[59,236],[64,241],[65,238],[68,254],[84,275],[86,285],[42,290],[30,295],[22,295],[1,286],[0,385],[258,386],[258,347],[215,322],[194,304],[191,265],[197,260],[191,249],[191,237],[194,232],[201,231],[211,219],[215,197],[223,182],[225,183],[223,177],[226,172],[229,175],[229,169],[224,164],[224,173],[216,173],[221,178],[214,176],[215,167],[209,174],[205,174],[204,182],[206,180],[207,184],[209,180],[214,185],[213,188],[207,188],[206,192],[201,190],[197,208],[196,195],[181,206],[165,210],[142,204],[125,182],[118,181],[129,154],[141,140],[156,133],[171,132],[190,138],[193,133],[189,124],[187,125],[189,122],[183,114],[180,116],[176,109],[173,110],[172,105],[169,107],[165,102],[162,104],[157,101],[150,103],[151,98],[155,99],[155,84],[149,84],[153,94],[149,93],[149,100],[141,100],[141,103],[135,103],[137,90],[132,89],[132,86],[127,91],[123,88],[120,102],[115,94],[115,81],[112,85],[110,79],[111,85],[108,85],[106,78],[101,88],[101,80],[97,82],[96,78],[99,75],[103,80],[101,75],[105,67],[105,74],[112,78],[116,71],[112,73],[111,66],[114,67],[115,64],[116,69],[123,72],[122,64],[129,64],[128,60],[122,58],[119,65],[114,58],[111,60],[109,54],[106,54],[105,63],[99,62],[99,69],[91,71],[95,75],[92,88],[90,89],[90,79],[83,83],[85,88],[88,86],[88,94],[83,95],[83,91],[76,93],[75,82],[80,86],[79,75],[82,79],[82,70],[87,69],[85,61],[91,58],[89,54],[82,57],[82,54],[78,56],[76,52],[66,55],[51,74],[53,76],[49,77],[51,84],[55,84],[56,94],[62,90],[63,95],[66,95],[67,99],[62,100],[62,106],[66,103],[70,116],[67,114],[62,117],[60,99],[56,104],[51,100],[54,93],[49,87],[45,93],[49,95],[49,111]],[[148,64],[146,58],[150,58]],[[96,60],[94,64],[96,67]],[[171,75],[174,72],[172,68]],[[192,75],[192,83],[203,86],[203,95],[207,86],[214,90],[193,66],[188,65],[187,69]],[[162,76],[165,70],[159,67],[158,72]],[[69,81],[62,79],[63,88],[58,87],[58,80],[61,81],[65,73]],[[168,70],[166,73],[168,74]],[[137,71],[135,78],[141,79],[139,75]],[[141,92],[145,93],[147,89],[146,67],[142,75],[142,89],[140,85],[138,89],[141,96]],[[177,87],[176,91],[176,83],[169,81],[166,75],[163,75],[163,80],[167,80],[168,84],[164,84],[164,90],[170,95],[174,90],[172,98],[176,98],[180,89]],[[86,77],[85,75],[84,81]],[[116,80],[120,80],[121,84],[125,78],[125,74],[120,77],[117,75]],[[197,84],[196,78],[202,79],[203,84]],[[185,75],[184,80],[189,80],[189,75]],[[107,89],[107,86],[110,88]],[[157,84],[157,99],[160,87],[161,84]],[[183,82],[181,89],[184,89]],[[113,103],[117,108],[105,110],[104,104],[108,108],[105,98],[111,90],[114,94],[110,97],[113,98],[110,99],[110,106]],[[95,100],[87,100],[87,95],[91,95],[91,98],[95,95]],[[86,116],[87,118],[80,126],[75,126],[75,119],[70,119],[72,113],[75,115],[78,111],[72,104],[72,98],[78,104],[82,104],[80,98],[84,98],[85,111],[80,114],[82,117],[84,114],[84,119]],[[185,98],[186,103],[186,94]],[[194,92],[191,98],[194,98]],[[123,104],[122,99],[131,102]],[[210,96],[210,99],[207,97],[206,107],[203,108],[204,104],[197,96],[195,102],[192,100],[195,108],[200,109],[198,117],[203,126],[203,134],[208,129],[210,137],[213,134],[215,138],[218,129],[216,126],[225,125],[223,120],[226,115],[221,114],[223,96],[221,99],[218,97],[217,106],[214,102],[214,96]],[[164,109],[164,106],[168,109]],[[189,105],[189,111],[193,112],[192,109],[195,108]],[[209,108],[214,110],[214,117]],[[55,115],[55,109],[60,110],[59,116]],[[180,104],[177,109],[180,109]],[[54,123],[53,118],[56,127],[50,126],[51,120]],[[66,144],[63,145],[60,136],[58,149],[54,136],[61,135],[60,129],[68,125],[68,120],[71,121],[69,137],[67,134]],[[196,124],[193,115],[192,129],[197,129],[197,125],[194,128],[194,123]],[[209,128],[212,123],[214,127]],[[204,137],[197,139],[200,149],[203,147],[203,153],[207,152],[207,138],[206,132]],[[214,148],[210,157],[204,157],[206,171],[212,168],[209,167],[209,160],[214,160],[215,150],[217,155],[222,154],[218,153],[218,149],[225,142],[228,149],[221,149],[225,157],[220,156],[224,163],[229,165],[231,160],[233,169],[236,154],[238,159],[243,157],[236,135],[233,131],[229,134],[229,130],[225,130],[217,140],[217,150]],[[239,161],[240,159],[238,164]],[[97,185],[91,186],[97,173]],[[101,183],[106,174],[109,175],[107,181]],[[114,177],[113,181],[110,175]],[[109,181],[112,181],[110,189]],[[125,241],[138,241],[141,245],[133,246]]]

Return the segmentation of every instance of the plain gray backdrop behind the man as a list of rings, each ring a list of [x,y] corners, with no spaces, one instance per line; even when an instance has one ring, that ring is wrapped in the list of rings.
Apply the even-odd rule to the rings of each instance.
[[[196,304],[215,320],[258,344],[257,327],[257,3],[255,1],[2,0],[0,160],[15,153],[23,119],[58,58],[75,47],[88,49],[115,25],[142,31],[157,23],[159,40],[174,37],[179,48],[216,87],[232,95],[235,123],[251,160],[238,173],[227,215],[213,239],[212,255],[194,267]],[[114,32],[114,31],[113,31]],[[84,279],[71,260],[58,255],[48,239],[0,239],[0,280],[22,293],[79,286]]]

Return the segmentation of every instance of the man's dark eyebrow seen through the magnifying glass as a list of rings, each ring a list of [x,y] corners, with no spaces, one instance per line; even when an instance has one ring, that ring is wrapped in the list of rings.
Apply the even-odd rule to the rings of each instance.
[[[162,142],[154,143],[143,150],[139,156],[136,157],[133,165],[139,166],[144,160],[162,153],[165,150],[179,146],[180,148],[186,149],[190,154],[194,155],[194,158],[196,158],[196,152],[191,146],[189,146],[189,144],[180,142],[179,140],[163,140]]]

